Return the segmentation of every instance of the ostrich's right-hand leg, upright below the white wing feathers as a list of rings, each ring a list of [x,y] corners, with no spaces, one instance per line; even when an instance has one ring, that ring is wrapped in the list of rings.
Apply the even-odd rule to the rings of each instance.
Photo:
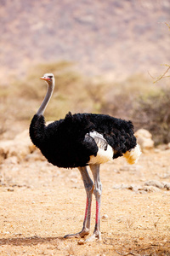
[[[100,204],[101,204],[101,192],[102,184],[99,179],[99,165],[90,165],[90,169],[94,176],[94,195],[96,198],[96,217],[95,217],[95,228],[94,235],[88,237],[87,241],[94,241],[95,239],[101,240],[100,232]]]

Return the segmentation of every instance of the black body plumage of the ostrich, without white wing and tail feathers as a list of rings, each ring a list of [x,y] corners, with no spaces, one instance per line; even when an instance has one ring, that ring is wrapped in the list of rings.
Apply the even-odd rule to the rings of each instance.
[[[90,155],[96,156],[98,146],[87,136],[90,131],[105,137],[114,150],[113,158],[136,146],[132,122],[105,114],[67,113],[65,119],[48,126],[42,115],[35,114],[30,125],[32,143],[54,166],[66,168],[87,166]]]

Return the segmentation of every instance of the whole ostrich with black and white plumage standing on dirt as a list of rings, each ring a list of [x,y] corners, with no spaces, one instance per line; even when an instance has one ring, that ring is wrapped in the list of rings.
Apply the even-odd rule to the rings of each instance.
[[[47,82],[48,91],[42,105],[31,119],[31,141],[54,166],[77,167],[87,194],[82,230],[77,234],[66,235],[65,238],[88,236],[94,193],[96,199],[94,234],[88,237],[87,241],[101,240],[99,221],[102,185],[99,166],[120,156],[124,156],[129,164],[139,159],[140,148],[133,134],[133,124],[131,121],[116,119],[105,114],[69,112],[65,115],[65,119],[46,125],[43,113],[53,94],[54,74],[46,73],[40,79]],[[87,166],[92,171],[94,182],[88,174]]]

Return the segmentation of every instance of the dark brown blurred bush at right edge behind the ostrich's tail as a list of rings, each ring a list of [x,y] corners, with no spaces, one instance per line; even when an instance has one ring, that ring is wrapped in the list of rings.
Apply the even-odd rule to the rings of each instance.
[[[170,142],[170,89],[159,94],[141,96],[133,110],[138,126],[149,130],[156,144]]]

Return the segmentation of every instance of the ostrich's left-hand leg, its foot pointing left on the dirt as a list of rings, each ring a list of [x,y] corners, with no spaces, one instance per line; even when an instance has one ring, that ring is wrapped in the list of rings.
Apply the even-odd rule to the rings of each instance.
[[[89,177],[87,167],[78,167],[78,169],[82,175],[82,180],[83,180],[84,187],[86,189],[86,194],[87,194],[85,217],[84,217],[84,222],[83,222],[83,226],[82,226],[82,231],[78,232],[77,234],[66,235],[65,238],[88,236],[89,231],[90,231],[90,215],[91,215],[91,205],[92,205],[92,195],[93,195],[93,191],[94,191],[94,183],[91,180],[91,178]]]

